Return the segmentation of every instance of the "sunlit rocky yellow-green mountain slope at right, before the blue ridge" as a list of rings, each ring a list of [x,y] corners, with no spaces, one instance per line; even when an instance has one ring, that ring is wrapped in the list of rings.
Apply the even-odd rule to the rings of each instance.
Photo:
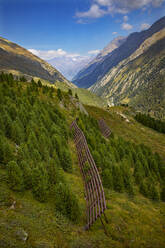
[[[145,40],[127,59],[112,68],[90,89],[114,103],[165,114],[165,29]]]

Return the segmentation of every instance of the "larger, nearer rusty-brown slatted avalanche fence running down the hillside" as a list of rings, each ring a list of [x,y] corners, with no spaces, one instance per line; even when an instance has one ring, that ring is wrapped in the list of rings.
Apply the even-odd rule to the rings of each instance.
[[[71,129],[73,130],[78,161],[85,186],[87,204],[86,229],[89,229],[97,218],[100,217],[101,219],[101,214],[104,214],[106,209],[104,189],[98,169],[88,148],[84,133],[78,127],[76,121],[72,122]],[[105,214],[104,217],[107,221]]]

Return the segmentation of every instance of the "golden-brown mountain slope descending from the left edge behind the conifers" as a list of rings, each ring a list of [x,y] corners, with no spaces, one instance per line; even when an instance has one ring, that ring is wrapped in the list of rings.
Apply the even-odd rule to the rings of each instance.
[[[51,83],[54,81],[65,82],[73,86],[50,64],[2,37],[0,37],[0,71],[38,77]]]

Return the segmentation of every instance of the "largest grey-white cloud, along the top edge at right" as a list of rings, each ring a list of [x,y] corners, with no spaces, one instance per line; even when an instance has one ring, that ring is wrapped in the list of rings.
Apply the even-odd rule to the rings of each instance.
[[[127,14],[135,9],[147,9],[149,6],[160,7],[164,0],[91,0],[92,5],[85,12],[77,12],[77,18],[100,18],[106,14]],[[128,16],[124,16],[124,22]]]

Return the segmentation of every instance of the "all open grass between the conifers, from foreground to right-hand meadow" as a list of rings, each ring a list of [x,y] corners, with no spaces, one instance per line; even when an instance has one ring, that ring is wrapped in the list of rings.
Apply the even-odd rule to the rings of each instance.
[[[57,101],[55,100],[55,104]],[[113,108],[110,113],[99,108],[86,106],[86,109],[93,116],[104,117],[112,130],[126,139],[135,141],[137,135],[141,135],[138,127],[144,128],[146,135],[139,142],[147,142],[151,132],[152,143],[161,145],[165,151],[165,139],[160,134],[155,136],[154,131],[142,127],[140,124],[125,123],[115,111],[124,111],[124,108]],[[68,124],[73,120],[73,104],[69,103],[67,109],[63,109]],[[148,130],[148,131],[147,131]],[[142,136],[142,135],[141,135]],[[140,137],[141,137],[140,136]],[[162,137],[161,141],[158,140]],[[141,137],[142,139],[142,137]],[[161,143],[164,142],[164,143]],[[150,142],[151,143],[151,142]],[[156,144],[156,143],[154,143]],[[154,147],[154,149],[157,149]],[[109,237],[104,234],[99,220],[90,231],[83,230],[85,225],[85,199],[84,187],[79,171],[76,150],[73,141],[70,139],[70,150],[73,160],[73,173],[65,173],[71,188],[79,197],[81,203],[81,220],[75,225],[57,214],[51,204],[43,204],[34,200],[30,192],[22,194],[10,191],[5,183],[5,171],[0,170],[0,247],[6,248],[66,248],[66,247],[157,247],[165,246],[164,223],[165,204],[155,203],[145,199],[141,195],[131,199],[126,194],[119,194],[105,190],[107,217],[109,224],[106,225]],[[163,155],[163,152],[160,150]],[[16,208],[10,209],[13,201],[16,200]],[[16,238],[16,232],[24,229],[29,238],[26,242]]]

